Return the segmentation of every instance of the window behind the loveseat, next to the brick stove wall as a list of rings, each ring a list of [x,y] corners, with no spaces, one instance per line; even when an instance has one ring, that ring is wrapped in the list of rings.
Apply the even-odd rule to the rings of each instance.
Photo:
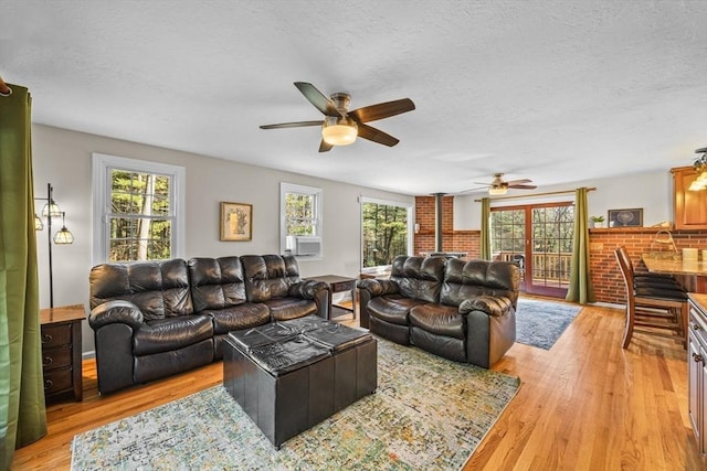
[[[361,199],[362,268],[391,265],[412,253],[412,205]]]

